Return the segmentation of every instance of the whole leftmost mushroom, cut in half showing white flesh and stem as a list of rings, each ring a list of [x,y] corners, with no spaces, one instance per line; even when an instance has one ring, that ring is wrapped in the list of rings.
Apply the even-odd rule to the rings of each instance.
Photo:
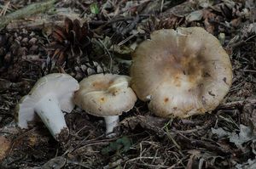
[[[28,121],[36,120],[36,113],[56,140],[67,138],[68,128],[61,110],[73,110],[73,93],[77,90],[79,82],[67,74],[53,73],[40,78],[16,106],[18,126],[27,128]]]

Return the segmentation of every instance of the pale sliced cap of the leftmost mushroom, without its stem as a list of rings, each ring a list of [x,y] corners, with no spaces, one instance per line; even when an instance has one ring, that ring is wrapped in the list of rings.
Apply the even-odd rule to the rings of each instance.
[[[35,119],[35,110],[40,99],[53,93],[58,99],[61,110],[71,112],[74,108],[73,93],[79,89],[79,83],[67,74],[53,73],[36,82],[28,95],[20,99],[16,106],[15,119],[21,128],[27,127],[27,121]]]

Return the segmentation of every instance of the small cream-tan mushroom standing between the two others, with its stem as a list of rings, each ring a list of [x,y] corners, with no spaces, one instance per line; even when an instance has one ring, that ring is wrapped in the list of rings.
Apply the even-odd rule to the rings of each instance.
[[[106,134],[113,132],[119,115],[132,109],[137,97],[129,87],[130,77],[113,74],[96,74],[79,82],[74,103],[91,115],[102,116]]]

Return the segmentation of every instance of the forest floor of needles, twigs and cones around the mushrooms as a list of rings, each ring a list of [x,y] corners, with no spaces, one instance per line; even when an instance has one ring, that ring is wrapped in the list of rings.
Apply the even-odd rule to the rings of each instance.
[[[0,1],[0,168],[256,168],[255,0],[51,0],[32,6],[38,2]],[[40,122],[14,127],[15,105],[40,77],[129,75],[132,51],[152,31],[189,26],[203,27],[230,55],[232,86],[216,110],[164,119],[137,101],[120,116],[118,135],[107,138],[103,118],[76,107],[65,116],[66,144]]]

